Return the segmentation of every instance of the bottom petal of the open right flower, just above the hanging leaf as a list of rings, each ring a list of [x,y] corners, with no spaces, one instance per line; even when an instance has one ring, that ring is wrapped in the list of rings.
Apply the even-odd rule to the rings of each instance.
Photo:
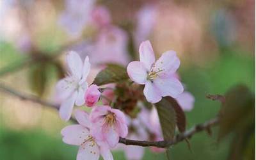
[[[151,81],[147,81],[143,93],[147,101],[150,103],[156,103],[162,99],[161,93],[159,92],[158,88]]]

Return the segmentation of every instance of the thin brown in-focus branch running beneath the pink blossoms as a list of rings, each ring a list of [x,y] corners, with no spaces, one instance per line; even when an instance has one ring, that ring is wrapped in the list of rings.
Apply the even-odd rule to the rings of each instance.
[[[23,100],[29,100],[31,102],[42,104],[44,106],[49,106],[51,108],[56,108],[56,109],[59,108],[56,104],[52,104],[51,102],[46,102],[46,101],[44,101],[38,97],[35,97],[33,95],[26,95],[24,93],[17,92],[15,90],[13,90],[12,88],[5,86],[4,84],[1,84],[1,83],[0,83],[0,90],[2,90],[3,92],[6,92],[6,93],[10,93],[10,94],[12,94],[16,97],[19,97],[20,99],[23,99]],[[72,121],[76,121],[76,120],[72,119]],[[204,122],[203,124],[195,125],[195,127],[192,127],[188,131],[178,134],[171,141],[137,141],[137,140],[128,140],[125,138],[120,138],[119,143],[123,143],[125,145],[138,145],[141,147],[153,146],[153,147],[159,147],[159,148],[166,148],[166,147],[170,147],[171,145],[175,145],[176,143],[179,143],[180,141],[191,138],[197,132],[201,132],[201,131],[205,131],[205,130],[207,131],[207,129],[218,124],[218,122],[219,122],[219,118],[216,117],[207,122]]]

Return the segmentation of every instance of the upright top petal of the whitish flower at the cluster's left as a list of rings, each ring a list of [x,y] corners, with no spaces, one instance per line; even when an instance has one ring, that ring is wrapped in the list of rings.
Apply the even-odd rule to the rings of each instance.
[[[68,52],[67,64],[72,76],[75,76],[77,79],[81,79],[83,74],[83,62],[77,52]]]

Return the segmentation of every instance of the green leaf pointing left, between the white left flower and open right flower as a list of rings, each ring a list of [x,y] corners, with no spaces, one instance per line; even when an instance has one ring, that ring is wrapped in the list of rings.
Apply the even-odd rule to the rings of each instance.
[[[103,85],[108,83],[118,83],[129,79],[126,68],[121,65],[108,64],[104,70],[95,77],[93,84]]]

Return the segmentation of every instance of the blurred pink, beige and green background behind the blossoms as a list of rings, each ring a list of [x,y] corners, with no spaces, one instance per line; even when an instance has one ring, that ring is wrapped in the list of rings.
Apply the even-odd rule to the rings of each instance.
[[[177,51],[180,77],[195,96],[195,107],[186,112],[188,128],[218,114],[220,104],[205,94],[223,94],[237,83],[255,93],[253,0],[101,0],[85,9],[70,2],[0,0],[1,83],[52,102],[66,51],[92,57],[92,81],[97,63],[127,65],[138,58],[140,42],[149,39],[157,56]],[[86,10],[96,6],[106,13],[96,12],[93,21]],[[70,15],[74,8],[77,13]],[[67,124],[56,109],[0,94],[0,159],[76,159],[77,147],[61,141]],[[173,146],[172,159],[227,159],[232,135],[218,143],[217,131],[193,136],[191,150],[185,142]],[[122,150],[113,154],[125,159]],[[166,156],[147,149],[143,159]]]

